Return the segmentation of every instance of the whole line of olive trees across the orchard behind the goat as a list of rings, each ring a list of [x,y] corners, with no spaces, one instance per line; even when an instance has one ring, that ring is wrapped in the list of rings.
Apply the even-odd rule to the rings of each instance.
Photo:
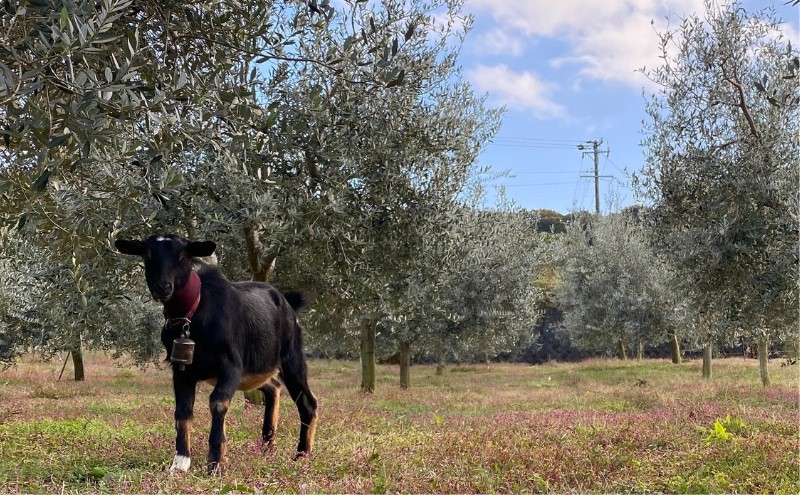
[[[798,58],[736,7],[683,19],[643,69],[642,214],[537,228],[485,204],[503,109],[458,65],[464,0],[6,1],[3,359],[69,351],[76,378],[85,347],[153,359],[158,312],[112,246],[162,231],[309,292],[309,350],[358,355],[368,391],[388,354],[408,386],[412,354],[535,344],[548,305],[586,349],[744,333],[766,355],[797,324]]]

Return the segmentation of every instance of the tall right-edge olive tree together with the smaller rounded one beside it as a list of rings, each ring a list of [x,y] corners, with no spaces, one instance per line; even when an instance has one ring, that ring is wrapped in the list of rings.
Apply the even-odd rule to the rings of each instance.
[[[634,178],[642,222],[574,222],[559,299],[584,347],[680,333],[706,377],[714,346],[755,340],[766,385],[769,342],[798,324],[800,57],[773,11],[705,7],[661,33],[663,63],[643,69],[657,90]]]

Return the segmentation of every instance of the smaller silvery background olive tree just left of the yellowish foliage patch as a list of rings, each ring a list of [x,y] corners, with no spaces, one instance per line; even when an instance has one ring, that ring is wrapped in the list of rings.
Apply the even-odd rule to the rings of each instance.
[[[434,300],[447,308],[452,349],[488,362],[536,338],[540,235],[532,215],[502,204],[469,212],[460,230],[466,251]]]

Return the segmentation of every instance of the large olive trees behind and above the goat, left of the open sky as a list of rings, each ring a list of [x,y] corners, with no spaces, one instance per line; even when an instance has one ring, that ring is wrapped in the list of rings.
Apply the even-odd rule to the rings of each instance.
[[[499,125],[461,80],[463,3],[10,5],[0,214],[24,248],[4,254],[45,274],[53,348],[137,341],[144,316],[115,316],[146,314],[140,270],[113,240],[177,231],[232,277],[310,290],[309,341],[360,340],[373,388],[375,329],[451,269],[418,254],[454,242]]]

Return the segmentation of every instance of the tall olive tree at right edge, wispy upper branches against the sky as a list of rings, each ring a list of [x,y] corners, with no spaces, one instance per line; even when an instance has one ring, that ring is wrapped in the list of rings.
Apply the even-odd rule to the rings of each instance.
[[[773,11],[736,3],[707,2],[660,40],[639,184],[699,308],[703,375],[723,328],[758,341],[766,385],[768,342],[798,316],[797,52]]]

